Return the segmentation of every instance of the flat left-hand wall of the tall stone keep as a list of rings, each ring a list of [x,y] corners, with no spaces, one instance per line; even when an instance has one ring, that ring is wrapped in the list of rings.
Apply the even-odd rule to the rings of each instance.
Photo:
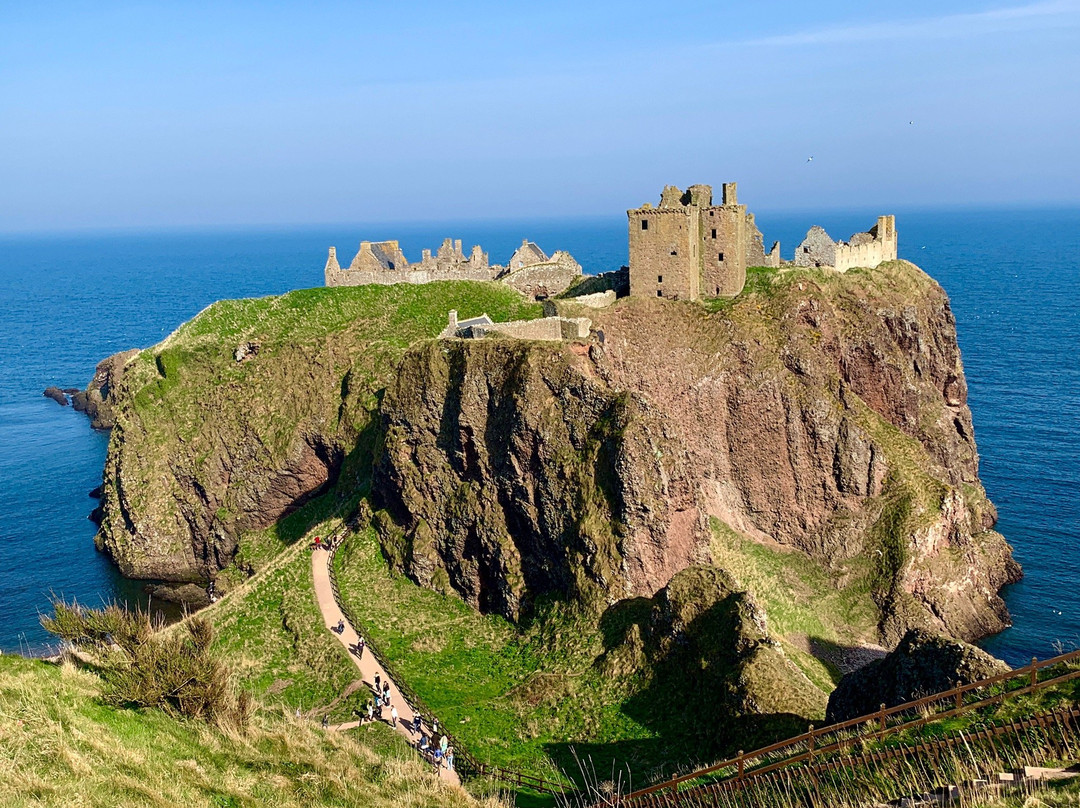
[[[626,215],[630,294],[696,300],[701,295],[700,210],[640,207]]]

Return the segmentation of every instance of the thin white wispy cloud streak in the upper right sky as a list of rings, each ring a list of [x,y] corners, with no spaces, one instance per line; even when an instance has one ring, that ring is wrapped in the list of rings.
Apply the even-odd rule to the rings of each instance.
[[[968,14],[946,14],[866,25],[837,25],[746,40],[741,44],[792,48],[896,39],[957,39],[1078,24],[1080,24],[1080,2],[1056,0]]]

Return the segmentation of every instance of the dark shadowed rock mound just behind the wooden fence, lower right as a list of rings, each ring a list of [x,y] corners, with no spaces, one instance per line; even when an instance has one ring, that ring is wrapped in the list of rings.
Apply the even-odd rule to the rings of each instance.
[[[828,724],[868,715],[943,690],[989,678],[1009,665],[958,639],[912,629],[883,659],[840,679],[828,698]]]

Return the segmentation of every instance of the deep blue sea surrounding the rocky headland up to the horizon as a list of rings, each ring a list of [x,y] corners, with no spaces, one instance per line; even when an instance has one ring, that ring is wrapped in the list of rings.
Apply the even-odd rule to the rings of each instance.
[[[789,257],[811,224],[847,238],[876,211],[759,212]],[[1014,628],[985,641],[1013,664],[1080,645],[1080,210],[900,211],[901,256],[956,313],[982,477],[1025,579]],[[86,385],[103,358],[162,339],[220,298],[321,285],[326,247],[396,238],[410,259],[443,238],[504,262],[521,239],[586,272],[626,261],[625,220],[355,225],[244,232],[0,237],[0,649],[40,652],[55,596],[146,602],[94,549],[89,491],[108,435],[43,398]]]

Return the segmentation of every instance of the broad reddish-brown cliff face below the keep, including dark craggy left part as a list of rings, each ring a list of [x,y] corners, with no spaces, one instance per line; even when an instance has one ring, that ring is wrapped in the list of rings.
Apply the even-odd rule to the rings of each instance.
[[[838,576],[882,638],[1008,624],[955,322],[902,261],[753,279],[730,307],[627,300],[592,345],[427,345],[382,401],[376,504],[416,580],[516,618],[544,593],[652,595],[707,517]]]

